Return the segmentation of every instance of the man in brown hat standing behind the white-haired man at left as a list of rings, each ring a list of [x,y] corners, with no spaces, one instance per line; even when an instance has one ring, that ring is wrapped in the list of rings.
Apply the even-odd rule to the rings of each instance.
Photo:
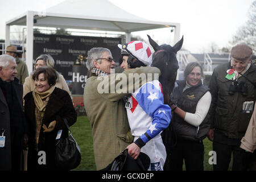
[[[16,74],[16,78],[18,78],[19,83],[20,84],[24,84],[25,82],[25,78],[28,77],[28,70],[27,70],[27,65],[26,63],[24,63],[24,61],[20,60],[18,57],[18,53],[17,52],[17,47],[16,46],[7,46],[6,47],[6,54],[13,56],[15,58],[16,64],[18,65],[17,67],[17,74]]]

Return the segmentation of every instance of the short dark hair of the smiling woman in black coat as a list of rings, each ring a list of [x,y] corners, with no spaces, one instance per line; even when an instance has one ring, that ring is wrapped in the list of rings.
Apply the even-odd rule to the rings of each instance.
[[[49,85],[55,85],[57,79],[57,72],[51,67],[40,67],[35,70],[35,73],[32,75],[33,80],[38,79],[38,76],[44,73],[45,78],[48,80]]]

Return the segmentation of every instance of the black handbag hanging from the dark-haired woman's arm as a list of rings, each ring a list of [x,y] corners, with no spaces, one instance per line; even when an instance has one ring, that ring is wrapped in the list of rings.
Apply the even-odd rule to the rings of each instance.
[[[73,138],[68,126],[67,119],[64,118],[65,125],[69,131],[69,137],[60,138],[56,143],[55,162],[57,168],[61,170],[71,170],[79,166],[81,162],[80,148]]]

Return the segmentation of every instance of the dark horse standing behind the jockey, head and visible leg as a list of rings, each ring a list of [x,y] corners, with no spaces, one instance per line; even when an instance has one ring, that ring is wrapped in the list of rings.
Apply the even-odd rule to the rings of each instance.
[[[154,49],[153,60],[152,60],[152,67],[157,67],[161,71],[161,75],[159,76],[159,82],[162,85],[163,89],[163,97],[164,97],[164,104],[169,104],[170,94],[174,89],[176,77],[177,77],[177,69],[179,69],[179,63],[176,58],[177,51],[179,51],[183,44],[183,36],[177,42],[174,47],[162,44],[159,46],[154,40],[151,39],[149,35],[148,40],[150,45]],[[172,126],[169,125],[167,129],[162,132],[162,139],[164,146],[166,147],[167,158],[166,163],[164,164],[164,170],[170,170],[170,151],[171,146],[174,145],[172,143]]]

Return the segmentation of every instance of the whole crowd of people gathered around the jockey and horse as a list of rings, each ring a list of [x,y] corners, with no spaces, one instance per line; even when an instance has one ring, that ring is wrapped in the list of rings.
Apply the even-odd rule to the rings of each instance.
[[[203,84],[200,63],[189,63],[167,105],[160,70],[151,67],[150,46],[139,40],[117,46],[119,68],[107,48],[90,49],[86,61],[84,106],[97,170],[127,150],[135,161],[141,152],[146,154],[148,171],[181,171],[183,162],[187,171],[203,171],[206,137],[216,152],[214,171],[228,170],[231,156],[232,170],[256,170],[256,65],[251,47],[232,47],[230,61],[214,68],[209,86]],[[17,54],[15,46],[8,46],[0,55],[0,170],[56,170],[57,133],[61,130],[61,137],[67,137],[64,118],[69,126],[77,119],[71,92],[51,55],[38,56],[28,76]],[[143,76],[130,82],[131,75]],[[170,150],[161,136],[167,128]],[[38,163],[39,151],[46,152],[46,164]]]

